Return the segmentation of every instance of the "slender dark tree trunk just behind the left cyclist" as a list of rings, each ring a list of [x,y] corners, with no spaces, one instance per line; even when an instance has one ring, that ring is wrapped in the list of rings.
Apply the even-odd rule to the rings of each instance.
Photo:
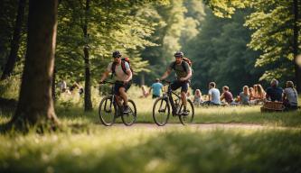
[[[85,23],[82,28],[84,34],[84,39],[89,41],[88,34],[88,14],[89,14],[89,0],[86,0],[86,9],[85,9]],[[86,43],[84,49],[84,60],[85,60],[85,111],[91,111],[92,101],[91,101],[91,86],[90,86],[90,69],[89,69],[89,45]]]

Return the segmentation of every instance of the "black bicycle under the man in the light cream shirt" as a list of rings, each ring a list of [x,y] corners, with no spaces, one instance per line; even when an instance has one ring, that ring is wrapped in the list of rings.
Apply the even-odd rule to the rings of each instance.
[[[111,94],[101,99],[99,104],[99,119],[106,126],[111,126],[116,119],[121,116],[125,125],[136,123],[136,105],[131,99],[128,99],[129,113],[124,114],[123,104],[118,104],[116,95],[114,94],[114,85],[116,82],[103,81],[102,84],[111,84]]]

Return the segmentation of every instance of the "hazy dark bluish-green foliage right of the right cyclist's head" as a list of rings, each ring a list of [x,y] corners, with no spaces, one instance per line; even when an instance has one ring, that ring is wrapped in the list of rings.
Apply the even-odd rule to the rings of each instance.
[[[206,11],[199,34],[183,47],[193,59],[193,88],[206,93],[209,82],[229,86],[233,95],[244,85],[257,83],[262,70],[254,68],[259,52],[249,50],[249,32],[243,27],[247,11],[238,11],[231,19]],[[196,49],[197,48],[197,49]]]

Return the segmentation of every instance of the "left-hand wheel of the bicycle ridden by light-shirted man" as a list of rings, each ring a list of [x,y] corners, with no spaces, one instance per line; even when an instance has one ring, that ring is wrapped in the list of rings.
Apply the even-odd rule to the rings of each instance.
[[[112,96],[105,96],[99,104],[99,119],[106,126],[115,123],[117,107],[112,103]]]

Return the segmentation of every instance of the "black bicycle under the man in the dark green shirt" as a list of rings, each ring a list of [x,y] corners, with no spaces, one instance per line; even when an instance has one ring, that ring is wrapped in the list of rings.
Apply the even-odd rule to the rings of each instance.
[[[181,96],[177,95],[170,87],[171,82],[165,81],[165,86],[168,84],[167,92],[163,96],[155,100],[153,106],[153,119],[159,126],[163,126],[168,122],[170,114],[170,106],[172,107],[173,116],[178,116],[180,122],[185,125],[187,123],[193,123],[194,106],[193,102],[187,98],[186,110],[188,115],[183,115],[183,103],[181,102]],[[175,98],[173,98],[173,96]]]

